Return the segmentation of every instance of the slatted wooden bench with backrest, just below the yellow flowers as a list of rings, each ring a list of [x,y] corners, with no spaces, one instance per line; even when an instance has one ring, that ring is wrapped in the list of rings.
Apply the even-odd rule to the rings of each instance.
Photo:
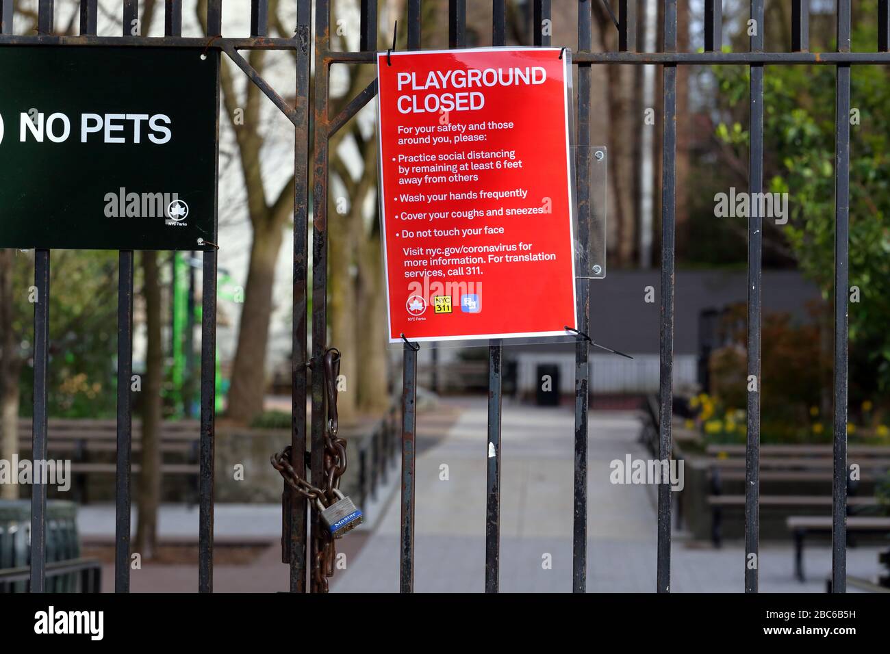
[[[711,540],[719,546],[722,541],[723,511],[729,507],[743,507],[743,494],[725,495],[725,481],[745,480],[745,446],[742,444],[709,445],[707,453],[714,458],[710,462],[711,493]],[[760,480],[762,482],[826,482],[832,479],[833,461],[831,445],[762,445],[760,447]],[[849,446],[848,463],[860,465],[862,481],[882,479],[890,468],[890,448],[880,446]],[[847,481],[847,511],[855,513],[865,507],[877,505],[875,497],[855,497],[858,483]],[[767,494],[760,496],[760,505],[784,509],[825,508],[830,511],[830,495]]]

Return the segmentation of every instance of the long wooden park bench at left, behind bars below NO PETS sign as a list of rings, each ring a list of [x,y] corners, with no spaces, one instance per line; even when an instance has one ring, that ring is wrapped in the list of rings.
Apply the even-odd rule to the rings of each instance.
[[[160,425],[161,474],[188,476],[193,494],[197,494],[198,488],[199,433],[200,424],[197,420],[162,421]],[[30,445],[29,418],[19,421],[19,442],[22,448],[28,448]],[[140,420],[133,421],[132,448],[134,453],[142,451]],[[50,458],[71,459],[75,498],[78,502],[85,503],[87,475],[114,475],[117,472],[117,464],[96,461],[96,456],[91,456],[106,455],[104,458],[108,458],[107,455],[117,451],[117,423],[114,420],[52,419],[48,423],[46,450]],[[168,455],[176,456],[180,462],[165,461]],[[132,464],[132,470],[139,472],[140,464]]]

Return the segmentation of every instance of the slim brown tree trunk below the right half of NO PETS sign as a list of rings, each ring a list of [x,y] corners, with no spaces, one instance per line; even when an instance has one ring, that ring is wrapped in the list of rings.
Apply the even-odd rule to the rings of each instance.
[[[134,549],[143,560],[158,546],[158,505],[161,495],[161,378],[164,352],[161,343],[161,287],[158,253],[142,253],[147,348],[142,380],[142,472],[139,474],[139,514]]]

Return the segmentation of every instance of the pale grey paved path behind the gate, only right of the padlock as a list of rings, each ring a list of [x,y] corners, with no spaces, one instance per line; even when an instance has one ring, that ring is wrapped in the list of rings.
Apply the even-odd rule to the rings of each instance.
[[[460,400],[463,409],[448,437],[417,457],[415,590],[482,592],[485,565],[486,404]],[[422,416],[421,416],[422,420]],[[502,592],[569,592],[573,479],[570,408],[505,404],[502,427]],[[589,448],[587,590],[653,592],[656,572],[655,489],[609,481],[611,460],[648,454],[636,441],[634,414],[591,414]],[[449,480],[440,480],[441,465]],[[336,592],[397,592],[400,505],[394,493],[376,532],[349,567],[335,577]],[[761,548],[762,592],[824,592],[828,547],[808,546],[809,581],[793,578],[790,545]],[[848,552],[848,572],[877,569],[877,548]],[[549,556],[548,556],[549,555]],[[545,569],[546,559],[552,569]],[[740,592],[740,546],[701,549],[675,537],[674,592]]]

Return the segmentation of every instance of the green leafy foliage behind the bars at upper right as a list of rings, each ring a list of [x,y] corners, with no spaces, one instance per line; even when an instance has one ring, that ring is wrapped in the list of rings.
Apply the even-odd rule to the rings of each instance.
[[[854,43],[872,49],[874,32],[863,25]],[[748,133],[725,117],[748,102],[748,75],[735,67],[712,70],[725,108],[716,137],[747,151]],[[852,71],[849,273],[860,293],[849,305],[850,366],[854,392],[867,394],[890,390],[890,76],[886,67]],[[835,75],[831,66],[768,66],[765,72],[766,179],[773,192],[789,193],[785,238],[827,299],[835,295]],[[850,289],[837,293],[849,298]]]

